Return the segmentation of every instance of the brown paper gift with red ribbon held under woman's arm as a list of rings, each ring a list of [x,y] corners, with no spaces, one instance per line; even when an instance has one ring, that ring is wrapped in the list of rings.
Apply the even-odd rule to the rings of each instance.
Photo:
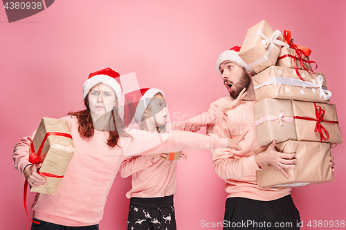
[[[46,137],[46,141],[42,143],[47,133],[48,136]],[[39,163],[42,163],[42,166],[39,172],[49,173],[59,177],[64,175],[73,153],[75,152],[73,140],[70,137],[62,136],[65,134],[71,136],[69,122],[64,119],[42,118],[33,139],[35,153],[41,157]],[[42,144],[42,150],[39,152],[39,148]],[[38,186],[37,188],[31,187],[30,191],[54,195],[62,178],[46,176],[46,179],[46,184]]]

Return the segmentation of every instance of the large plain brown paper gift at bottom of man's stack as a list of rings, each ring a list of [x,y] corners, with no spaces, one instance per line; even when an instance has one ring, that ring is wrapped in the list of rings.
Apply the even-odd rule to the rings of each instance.
[[[298,187],[334,180],[329,165],[330,146],[321,142],[287,141],[275,146],[282,153],[295,153],[294,169],[285,169],[284,174],[275,166],[266,165],[257,171],[257,185],[260,187]]]

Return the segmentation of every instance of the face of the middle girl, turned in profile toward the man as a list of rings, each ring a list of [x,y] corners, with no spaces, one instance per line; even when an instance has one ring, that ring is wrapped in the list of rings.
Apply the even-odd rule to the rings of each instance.
[[[152,127],[164,126],[167,122],[167,108],[165,98],[157,93],[145,110],[147,113],[147,125]]]

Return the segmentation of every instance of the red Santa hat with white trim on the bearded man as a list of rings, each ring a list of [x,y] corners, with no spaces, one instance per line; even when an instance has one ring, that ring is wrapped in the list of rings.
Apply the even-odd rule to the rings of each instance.
[[[253,69],[250,66],[248,66],[248,64],[246,64],[246,62],[243,61],[241,57],[239,57],[238,55],[239,50],[240,50],[239,46],[234,46],[233,48],[230,48],[229,50],[221,52],[221,54],[217,58],[217,63],[216,63],[217,73],[221,75],[220,64],[224,63],[224,61],[233,61],[235,62],[235,64],[242,66],[246,68],[247,70],[250,70],[251,73],[255,75],[255,71],[253,71]]]

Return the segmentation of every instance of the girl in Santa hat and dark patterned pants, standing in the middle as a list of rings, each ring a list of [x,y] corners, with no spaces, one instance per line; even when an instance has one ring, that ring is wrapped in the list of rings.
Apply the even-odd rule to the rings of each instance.
[[[153,133],[165,133],[170,129],[197,132],[216,119],[224,119],[224,113],[242,104],[242,98],[246,95],[244,91],[245,89],[235,101],[221,108],[170,125],[167,124],[163,92],[155,88],[143,88],[125,95],[125,125],[134,117],[142,130]],[[168,157],[167,154],[161,155],[163,159]],[[176,165],[176,160],[168,162],[159,158],[152,159],[149,155],[128,157],[122,162],[119,169],[121,177],[132,175],[132,187],[126,194],[130,198],[127,229],[176,229],[173,205]]]

